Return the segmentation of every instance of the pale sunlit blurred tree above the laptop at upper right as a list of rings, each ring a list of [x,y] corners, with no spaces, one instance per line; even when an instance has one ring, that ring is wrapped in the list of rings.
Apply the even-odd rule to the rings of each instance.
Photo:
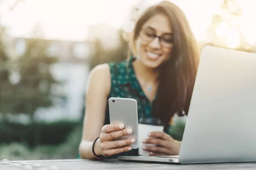
[[[250,51],[250,45],[242,34],[242,8],[236,0],[223,0],[221,10],[213,15],[212,23],[207,30],[207,45]]]

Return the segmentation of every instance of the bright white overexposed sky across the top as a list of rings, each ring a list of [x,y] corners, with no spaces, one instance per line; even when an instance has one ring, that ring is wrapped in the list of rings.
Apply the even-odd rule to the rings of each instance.
[[[0,0],[3,1],[3,0]],[[88,37],[88,28],[107,23],[113,28],[122,28],[127,23],[131,8],[140,4],[150,6],[160,0],[22,0],[14,11],[8,6],[14,0],[0,3],[0,22],[9,26],[13,37],[29,37],[36,23],[41,23],[44,37],[47,39],[84,41]],[[180,6],[186,14],[195,37],[201,41],[211,23],[213,14],[220,11],[221,0],[170,0]],[[253,43],[256,40],[256,0],[238,0],[244,12],[244,34]],[[226,30],[226,32],[225,32]],[[228,34],[220,27],[221,34]],[[230,37],[236,38],[236,31]],[[233,38],[233,39],[234,39]],[[230,41],[234,41],[231,39]],[[236,40],[238,41],[238,40]],[[249,40],[248,40],[249,41]]]

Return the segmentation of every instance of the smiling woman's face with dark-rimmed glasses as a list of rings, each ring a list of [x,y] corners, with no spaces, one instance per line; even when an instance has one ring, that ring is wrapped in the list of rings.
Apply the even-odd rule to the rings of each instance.
[[[136,41],[137,58],[145,66],[157,68],[171,57],[173,40],[172,26],[168,18],[157,14],[142,26]]]

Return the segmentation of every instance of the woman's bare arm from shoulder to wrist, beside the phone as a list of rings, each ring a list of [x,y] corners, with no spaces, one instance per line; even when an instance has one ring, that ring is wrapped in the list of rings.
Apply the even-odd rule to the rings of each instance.
[[[83,159],[94,159],[93,141],[99,137],[104,125],[107,97],[111,88],[111,75],[108,64],[98,65],[90,72],[86,91],[84,127],[79,153]],[[99,141],[95,146],[99,154]]]

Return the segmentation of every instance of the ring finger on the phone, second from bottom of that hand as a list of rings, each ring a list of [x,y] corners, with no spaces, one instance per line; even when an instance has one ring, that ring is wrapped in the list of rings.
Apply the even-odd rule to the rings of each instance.
[[[102,142],[100,147],[102,148],[102,150],[109,150],[109,149],[119,148],[123,146],[130,146],[134,142],[136,142],[134,138],[123,139],[119,141],[106,141],[106,142]]]

